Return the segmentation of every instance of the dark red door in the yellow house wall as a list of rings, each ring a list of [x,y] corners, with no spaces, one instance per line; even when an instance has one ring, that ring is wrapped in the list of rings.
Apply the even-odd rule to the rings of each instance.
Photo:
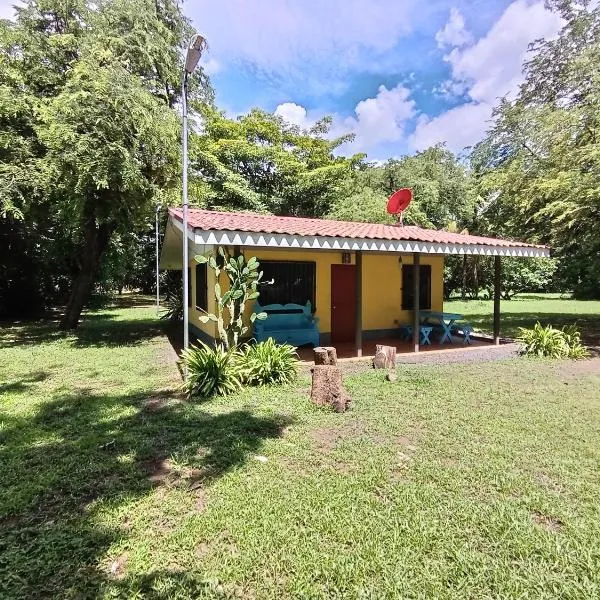
[[[356,322],[356,267],[331,265],[331,341],[353,342]]]

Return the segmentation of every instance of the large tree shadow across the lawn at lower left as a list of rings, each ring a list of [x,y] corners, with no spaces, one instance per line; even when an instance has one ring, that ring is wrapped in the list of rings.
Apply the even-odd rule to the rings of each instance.
[[[156,486],[196,494],[289,423],[246,410],[210,414],[169,391],[150,399],[88,391],[2,421],[0,597],[15,599],[102,595],[116,584],[98,563],[128,536],[119,507],[126,513]],[[152,587],[131,582],[124,597],[136,586]]]

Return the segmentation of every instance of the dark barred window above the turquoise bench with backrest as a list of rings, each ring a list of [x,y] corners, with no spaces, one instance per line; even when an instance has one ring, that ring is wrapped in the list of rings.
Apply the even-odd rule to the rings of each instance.
[[[314,262],[261,260],[263,282],[258,302],[267,304],[306,304],[315,310],[316,267]],[[273,282],[269,284],[268,282]]]

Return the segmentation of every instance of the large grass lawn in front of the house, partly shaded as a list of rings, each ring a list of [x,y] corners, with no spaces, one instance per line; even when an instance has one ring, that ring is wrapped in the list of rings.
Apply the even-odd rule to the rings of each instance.
[[[4,326],[0,598],[600,597],[600,359],[398,373],[187,403],[150,307]]]

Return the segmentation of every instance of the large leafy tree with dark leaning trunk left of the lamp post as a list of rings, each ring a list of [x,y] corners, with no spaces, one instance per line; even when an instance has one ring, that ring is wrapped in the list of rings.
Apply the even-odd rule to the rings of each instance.
[[[144,230],[177,185],[174,107],[191,28],[177,0],[28,0],[0,33],[0,119],[15,148],[1,205],[29,235],[53,215],[47,247],[75,257],[61,325],[76,327],[113,236]],[[192,93],[206,91],[200,71]]]

